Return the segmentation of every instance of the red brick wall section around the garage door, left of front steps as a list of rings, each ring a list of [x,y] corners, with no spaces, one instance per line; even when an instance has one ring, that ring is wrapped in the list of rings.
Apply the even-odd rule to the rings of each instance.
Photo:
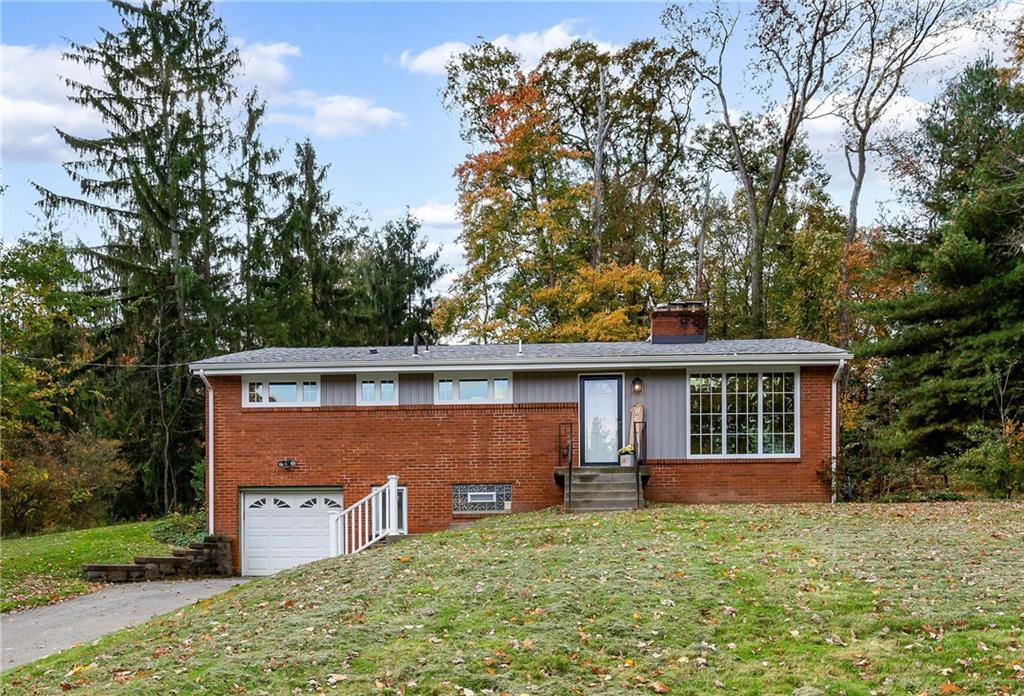
[[[562,502],[554,480],[558,424],[574,403],[243,408],[240,378],[214,389],[214,529],[239,558],[239,489],[340,486],[345,504],[397,474],[409,486],[409,531],[446,528],[453,483],[512,483],[512,509]],[[298,466],[278,468],[292,458]]]

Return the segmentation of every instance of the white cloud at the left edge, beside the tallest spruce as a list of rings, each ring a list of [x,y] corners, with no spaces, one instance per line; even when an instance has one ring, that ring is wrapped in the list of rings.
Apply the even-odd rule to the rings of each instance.
[[[0,45],[0,157],[4,162],[61,162],[72,151],[54,128],[75,135],[102,133],[96,112],[72,103],[63,78],[88,83],[84,66],[63,59],[62,49]]]

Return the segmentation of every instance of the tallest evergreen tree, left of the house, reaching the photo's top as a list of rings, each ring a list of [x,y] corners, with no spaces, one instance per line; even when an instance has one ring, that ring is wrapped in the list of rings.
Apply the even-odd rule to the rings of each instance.
[[[110,359],[138,366],[112,378],[124,411],[112,418],[113,434],[148,505],[167,510],[187,502],[202,456],[203,401],[185,363],[214,352],[229,327],[218,167],[239,58],[209,0],[112,4],[120,27],[66,53],[100,77],[69,86],[73,101],[102,116],[105,133],[58,131],[78,156],[65,170],[79,195],[38,188],[44,209],[82,212],[101,226],[105,244],[83,249],[97,290],[117,298],[100,331]]]

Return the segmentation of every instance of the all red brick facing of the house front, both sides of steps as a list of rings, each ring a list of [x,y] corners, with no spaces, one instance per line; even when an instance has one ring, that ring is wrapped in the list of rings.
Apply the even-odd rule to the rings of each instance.
[[[801,455],[788,460],[650,462],[648,499],[790,503],[827,501],[818,470],[830,455],[833,367],[801,372]],[[239,490],[256,486],[342,487],[351,504],[397,474],[409,486],[410,532],[443,529],[453,483],[511,482],[514,511],[562,502],[555,483],[559,423],[575,403],[243,408],[240,378],[214,387],[214,528],[239,559]],[[577,426],[573,425],[573,429]],[[291,471],[278,461],[292,458]]]

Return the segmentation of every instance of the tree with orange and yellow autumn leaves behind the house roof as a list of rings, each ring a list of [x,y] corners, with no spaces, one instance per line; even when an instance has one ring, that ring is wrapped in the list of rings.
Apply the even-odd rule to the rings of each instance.
[[[489,147],[457,169],[467,269],[436,320],[470,340],[642,338],[662,276],[635,263],[590,263],[592,183],[536,73],[488,95]]]

